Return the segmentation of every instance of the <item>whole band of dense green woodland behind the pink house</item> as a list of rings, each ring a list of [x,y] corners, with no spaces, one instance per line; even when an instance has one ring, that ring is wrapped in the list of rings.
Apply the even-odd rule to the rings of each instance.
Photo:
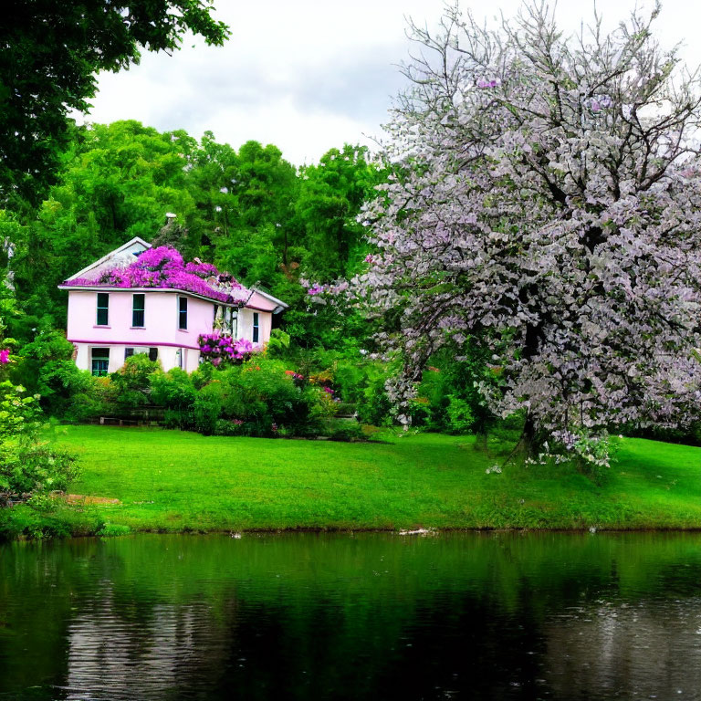
[[[12,324],[16,337],[63,329],[66,293],[57,286],[135,235],[284,299],[293,346],[332,346],[362,330],[360,319],[351,326],[348,316],[321,319],[298,279],[331,280],[364,265],[355,218],[381,179],[364,149],[332,149],[298,173],[275,146],[248,141],[236,151],[211,133],[196,141],[184,131],[121,121],[73,131],[61,162],[58,184],[40,207],[0,211],[0,242],[11,242],[26,312]],[[332,222],[330,205],[322,206],[330,200],[338,207]],[[164,225],[166,213],[176,217]],[[329,255],[338,241],[342,255]],[[0,267],[7,264],[0,251]]]

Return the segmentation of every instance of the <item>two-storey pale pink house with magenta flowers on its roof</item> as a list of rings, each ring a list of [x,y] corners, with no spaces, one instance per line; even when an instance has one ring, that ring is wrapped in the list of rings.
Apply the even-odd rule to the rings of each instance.
[[[148,353],[166,371],[194,371],[200,334],[218,330],[263,346],[273,314],[288,307],[214,266],[184,264],[174,249],[152,249],[139,237],[58,287],[68,290],[68,340],[76,347],[76,364],[93,375],[118,370],[134,353]]]

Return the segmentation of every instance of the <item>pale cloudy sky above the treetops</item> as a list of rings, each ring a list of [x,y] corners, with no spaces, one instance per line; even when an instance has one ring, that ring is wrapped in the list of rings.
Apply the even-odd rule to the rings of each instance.
[[[141,65],[99,78],[88,120],[133,119],[161,131],[185,129],[238,147],[250,139],[276,144],[288,161],[316,162],[333,146],[381,135],[392,96],[402,89],[398,64],[411,50],[406,20],[435,26],[443,0],[218,0],[215,16],[231,27],[225,47],[190,37],[173,56],[144,54]],[[518,0],[463,2],[478,17],[513,15]],[[634,0],[598,5],[610,22]],[[638,2],[651,7],[652,0]],[[695,6],[696,5],[696,6]],[[590,2],[560,0],[573,31]],[[657,21],[665,45],[685,42],[683,57],[701,62],[696,31],[701,5],[665,0]]]

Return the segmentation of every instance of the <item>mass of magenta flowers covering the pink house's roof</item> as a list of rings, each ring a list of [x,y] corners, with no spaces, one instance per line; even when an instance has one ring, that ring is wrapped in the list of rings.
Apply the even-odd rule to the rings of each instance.
[[[67,283],[68,284],[68,283]],[[173,288],[230,304],[246,302],[248,290],[213,265],[183,256],[170,246],[149,248],[128,267],[113,267],[97,278],[77,277],[71,285],[116,288]]]

